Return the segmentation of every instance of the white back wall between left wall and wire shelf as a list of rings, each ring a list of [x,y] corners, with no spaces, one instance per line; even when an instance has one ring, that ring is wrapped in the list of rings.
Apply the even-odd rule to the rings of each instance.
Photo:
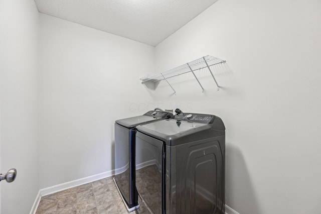
[[[145,113],[154,48],[43,14],[39,47],[40,188],[114,169],[114,121]]]

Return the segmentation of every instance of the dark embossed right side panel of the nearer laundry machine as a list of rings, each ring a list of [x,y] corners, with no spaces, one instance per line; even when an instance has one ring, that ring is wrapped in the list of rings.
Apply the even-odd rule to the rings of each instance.
[[[225,136],[176,146],[175,176],[176,213],[225,213]]]

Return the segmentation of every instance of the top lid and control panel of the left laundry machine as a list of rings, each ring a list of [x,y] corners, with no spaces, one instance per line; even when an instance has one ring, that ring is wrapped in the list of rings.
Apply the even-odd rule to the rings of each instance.
[[[169,112],[149,111],[141,116],[117,120],[115,123],[128,129],[133,129],[141,124],[151,123],[157,120],[164,120],[171,117],[173,117],[173,114]]]

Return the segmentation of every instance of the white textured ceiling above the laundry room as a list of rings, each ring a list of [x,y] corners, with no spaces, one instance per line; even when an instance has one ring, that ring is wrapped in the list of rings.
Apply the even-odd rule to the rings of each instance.
[[[156,46],[217,0],[35,0],[38,11]]]

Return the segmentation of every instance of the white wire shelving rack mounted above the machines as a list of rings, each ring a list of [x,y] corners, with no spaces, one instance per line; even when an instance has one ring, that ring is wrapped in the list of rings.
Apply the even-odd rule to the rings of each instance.
[[[199,79],[197,78],[197,76],[195,75],[194,71],[200,70],[200,69],[204,69],[204,68],[208,68],[209,72],[211,73],[215,84],[217,86],[217,90],[220,90],[220,86],[217,83],[214,74],[211,70],[211,66],[213,65],[217,65],[217,64],[221,64],[221,63],[225,63],[226,61],[223,59],[219,59],[210,55],[204,56],[202,58],[196,59],[192,62],[188,62],[184,65],[178,66],[176,68],[173,68],[171,70],[162,72],[162,73],[158,73],[146,78],[141,79],[141,83],[144,82],[158,82],[158,81],[162,81],[165,80],[173,89],[174,93],[176,94],[176,90],[173,88],[173,86],[171,85],[171,83],[168,81],[169,78],[175,77],[175,76],[179,76],[185,73],[189,73],[192,72],[195,79],[197,80],[197,82],[199,83],[199,85],[202,88],[202,92],[204,92],[204,88],[202,86],[202,84],[200,83]]]

